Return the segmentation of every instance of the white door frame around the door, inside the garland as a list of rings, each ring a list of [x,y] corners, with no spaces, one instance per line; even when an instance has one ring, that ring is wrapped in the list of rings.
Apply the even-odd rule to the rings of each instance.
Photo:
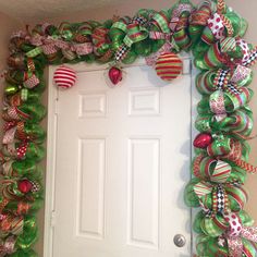
[[[192,57],[181,54],[183,60],[183,74],[191,74],[192,89],[192,107],[196,106],[198,99],[196,99],[195,89],[195,74],[196,70],[192,69]],[[68,64],[69,65],[69,64]],[[131,65],[123,66],[138,66],[146,65],[144,59],[138,59]],[[107,70],[108,64],[86,64],[78,63],[70,65],[75,69],[78,73],[89,72],[97,70]],[[53,233],[54,233],[54,194],[56,194],[56,157],[57,157],[57,131],[58,131],[58,96],[59,89],[53,85],[52,77],[57,66],[50,65],[48,72],[48,126],[47,126],[47,167],[46,167],[46,197],[45,197],[45,231],[44,231],[44,257],[54,257],[53,253]],[[69,90],[69,89],[68,89]],[[69,91],[68,91],[69,94]],[[192,121],[196,115],[195,108],[192,108]],[[195,134],[194,126],[192,123],[192,135]],[[189,171],[188,171],[189,172]],[[192,213],[192,211],[191,211]],[[188,217],[192,223],[192,215]],[[191,244],[193,245],[193,238]],[[193,247],[191,247],[193,248]],[[192,252],[192,250],[191,250]]]

